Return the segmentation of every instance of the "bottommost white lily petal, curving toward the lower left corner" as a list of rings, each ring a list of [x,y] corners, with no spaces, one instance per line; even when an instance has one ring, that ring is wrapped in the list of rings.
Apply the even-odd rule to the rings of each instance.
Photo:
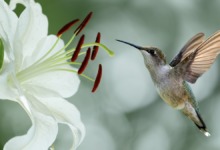
[[[54,142],[58,126],[56,121],[42,113],[33,110],[33,125],[26,135],[10,139],[4,150],[47,150]]]

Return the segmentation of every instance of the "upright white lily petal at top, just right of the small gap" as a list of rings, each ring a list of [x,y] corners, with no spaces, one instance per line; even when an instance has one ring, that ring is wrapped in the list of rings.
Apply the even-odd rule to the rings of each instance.
[[[20,1],[19,1],[20,2]],[[19,71],[23,59],[35,50],[38,41],[47,36],[48,20],[42,13],[42,8],[34,1],[28,1],[26,8],[21,13],[15,34],[16,69]]]

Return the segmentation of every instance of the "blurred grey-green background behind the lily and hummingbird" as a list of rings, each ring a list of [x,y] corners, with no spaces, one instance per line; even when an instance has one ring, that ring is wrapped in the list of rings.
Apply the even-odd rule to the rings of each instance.
[[[81,78],[78,93],[69,100],[81,112],[86,126],[79,150],[219,150],[220,149],[220,59],[195,85],[194,94],[212,134],[205,137],[180,112],[157,95],[140,52],[115,39],[163,50],[169,62],[193,35],[210,36],[220,29],[219,0],[38,0],[49,19],[49,33],[68,21],[93,18],[84,30],[86,41],[102,33],[102,43],[115,51],[110,58],[100,50],[86,74],[94,77],[103,64],[103,80],[92,94],[92,83]],[[0,14],[1,15],[1,14]],[[70,35],[69,35],[70,36]],[[69,36],[65,36],[67,42]],[[30,120],[21,107],[0,103],[0,149],[15,135],[25,134]],[[73,116],[74,117],[74,116]],[[55,149],[71,143],[69,129],[60,125]]]

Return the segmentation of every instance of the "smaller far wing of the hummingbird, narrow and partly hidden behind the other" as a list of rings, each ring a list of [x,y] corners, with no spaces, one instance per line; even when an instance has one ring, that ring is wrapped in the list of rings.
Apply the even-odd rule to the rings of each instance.
[[[170,66],[174,67],[181,61],[183,61],[187,56],[189,56],[191,53],[193,53],[196,48],[199,47],[202,42],[204,42],[204,34],[198,33],[194,35],[180,50],[180,52],[173,58],[173,60],[170,62]]]

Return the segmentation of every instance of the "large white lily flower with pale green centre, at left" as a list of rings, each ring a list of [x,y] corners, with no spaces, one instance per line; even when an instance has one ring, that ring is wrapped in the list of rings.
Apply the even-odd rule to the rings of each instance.
[[[20,16],[13,12],[17,3],[25,6]],[[34,0],[11,0],[10,5],[0,0],[0,38],[5,53],[0,72],[0,99],[19,103],[32,121],[27,134],[10,139],[5,150],[48,149],[56,139],[58,123],[70,127],[71,149],[77,148],[85,136],[78,109],[64,99],[73,96],[80,84],[77,71],[70,66],[80,63],[68,61],[76,48],[65,50],[76,34],[65,45],[61,36],[47,32],[47,17]],[[89,46],[101,46],[113,54],[99,43],[81,43],[80,47]]]

